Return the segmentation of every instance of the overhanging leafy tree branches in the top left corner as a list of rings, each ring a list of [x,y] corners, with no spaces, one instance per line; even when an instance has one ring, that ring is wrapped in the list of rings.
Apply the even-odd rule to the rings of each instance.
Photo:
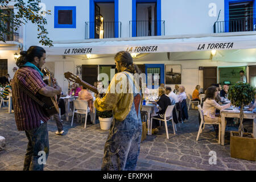
[[[37,26],[39,43],[43,46],[53,46],[52,40],[48,38],[48,32],[44,27],[47,24],[46,18],[41,14],[39,3],[40,0],[13,0],[14,10],[9,7],[10,1],[0,0],[0,41],[5,42],[5,35],[13,35],[14,32],[19,30],[22,24],[32,22]],[[44,12],[50,15],[51,11]]]

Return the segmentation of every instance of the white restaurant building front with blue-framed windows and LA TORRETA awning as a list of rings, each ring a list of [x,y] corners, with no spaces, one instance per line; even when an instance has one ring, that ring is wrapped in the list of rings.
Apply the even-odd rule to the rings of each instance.
[[[110,75],[118,51],[134,53],[137,55],[134,63],[143,72],[159,73],[160,83],[172,89],[175,84],[184,85],[191,94],[196,85],[206,87],[224,81],[233,84],[234,80],[225,80],[229,71],[224,68],[234,68],[236,77],[237,70],[244,69],[247,80],[255,80],[255,0],[42,0],[42,3],[46,10],[51,10],[51,15],[45,18],[53,41],[53,47],[44,47],[45,67],[55,73],[64,92],[68,89],[64,72],[80,74],[82,67],[81,78],[92,83],[98,73]],[[13,54],[39,45],[34,24],[20,27],[19,33],[19,41],[13,42],[10,49],[7,49],[10,45],[5,49],[0,47],[0,59],[8,60],[11,77],[15,67]],[[212,50],[217,50],[216,55],[212,55]],[[88,59],[89,56],[92,57]],[[180,74],[180,80],[167,80],[167,75],[172,75],[171,68]],[[207,76],[208,71],[212,73]]]

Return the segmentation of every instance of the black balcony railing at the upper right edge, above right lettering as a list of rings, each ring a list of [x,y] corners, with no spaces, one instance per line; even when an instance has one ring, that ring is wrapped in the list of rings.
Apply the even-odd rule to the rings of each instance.
[[[215,22],[213,25],[213,31],[214,33],[256,31],[255,22],[255,18],[242,18]]]

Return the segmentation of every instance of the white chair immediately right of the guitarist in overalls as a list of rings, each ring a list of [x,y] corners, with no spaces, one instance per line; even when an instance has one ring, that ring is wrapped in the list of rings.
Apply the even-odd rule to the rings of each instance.
[[[164,121],[164,125],[166,126],[166,137],[167,137],[167,139],[169,139],[167,121],[172,120],[172,127],[174,129],[174,134],[176,135],[175,130],[177,131],[177,128],[176,128],[176,125],[174,123],[174,119],[172,118],[172,110],[174,110],[174,105],[170,105],[170,106],[167,107],[166,113],[164,114],[164,119],[151,117],[151,119],[150,119],[150,135],[152,134],[152,119],[157,119],[159,121]]]

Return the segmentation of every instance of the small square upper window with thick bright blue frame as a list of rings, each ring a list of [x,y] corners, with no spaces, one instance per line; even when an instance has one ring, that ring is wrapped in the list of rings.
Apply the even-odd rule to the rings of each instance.
[[[54,28],[76,28],[76,6],[55,6]]]

